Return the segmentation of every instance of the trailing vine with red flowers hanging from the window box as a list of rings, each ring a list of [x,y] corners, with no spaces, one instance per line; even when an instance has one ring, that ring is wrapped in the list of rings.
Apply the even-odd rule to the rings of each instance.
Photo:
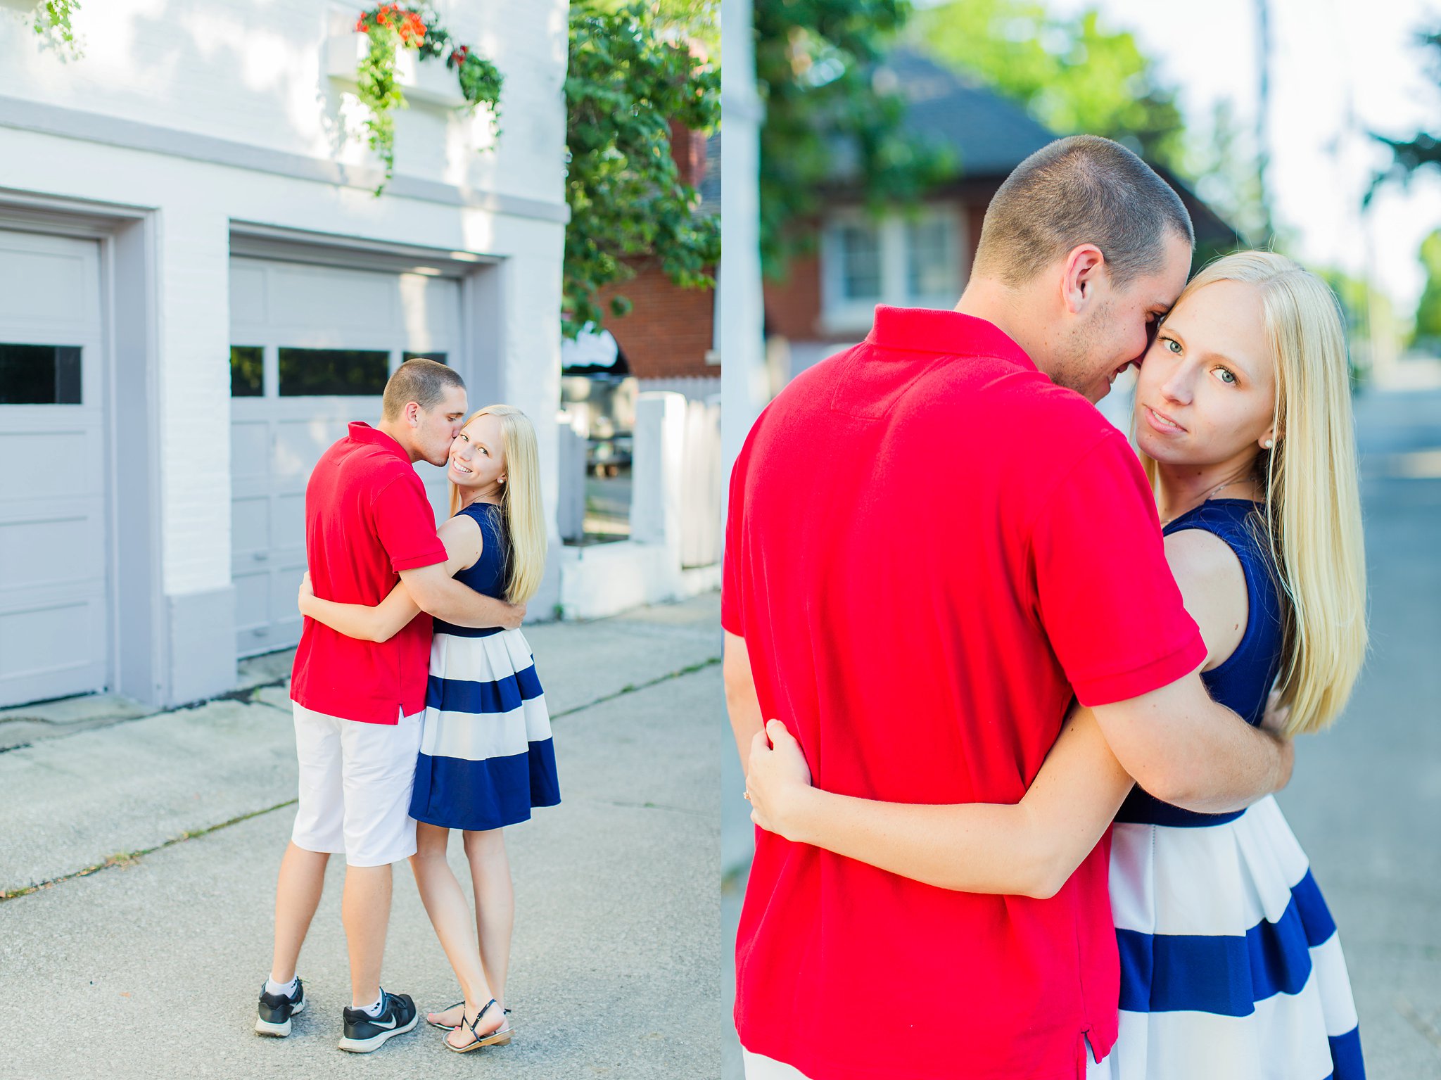
[[[421,60],[444,60],[445,66],[455,72],[461,96],[468,107],[474,109],[477,105],[487,105],[491,122],[499,122],[503,82],[500,69],[478,56],[468,45],[458,45],[429,7],[379,4],[362,12],[356,32],[369,40],[366,55],[356,65],[360,104],[370,112],[366,118],[366,131],[370,148],[380,156],[385,166],[385,177],[375,189],[376,196],[385,192],[395,173],[392,114],[398,108],[405,108],[405,94],[395,81],[395,58],[401,49],[414,49]]]

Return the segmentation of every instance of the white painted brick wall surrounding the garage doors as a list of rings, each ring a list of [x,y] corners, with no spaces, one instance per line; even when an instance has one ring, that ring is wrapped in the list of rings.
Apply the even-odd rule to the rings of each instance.
[[[440,3],[461,40],[504,72],[503,134],[432,108],[398,117],[398,176],[563,202],[565,0]],[[359,4],[337,10],[353,23]],[[62,63],[0,10],[0,98],[59,105],[317,160],[367,161],[339,127],[321,73],[326,0],[104,0],[85,4],[85,56]],[[229,223],[506,258],[501,386],[540,429],[555,510],[563,226],[159,153],[39,134],[0,121],[0,189],[153,209],[164,592],[231,580]],[[3,194],[3,192],[0,192]],[[477,402],[478,403],[478,402]],[[553,524],[552,524],[553,531]]]

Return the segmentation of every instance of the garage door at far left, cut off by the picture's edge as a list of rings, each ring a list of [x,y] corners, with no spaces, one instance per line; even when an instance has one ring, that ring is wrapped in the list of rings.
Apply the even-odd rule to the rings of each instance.
[[[110,671],[99,249],[0,230],[0,706]]]

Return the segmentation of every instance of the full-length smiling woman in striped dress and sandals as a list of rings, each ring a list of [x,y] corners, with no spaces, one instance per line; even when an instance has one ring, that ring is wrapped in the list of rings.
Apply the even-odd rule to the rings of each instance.
[[[507,405],[473,413],[451,444],[451,517],[440,537],[454,576],[488,596],[525,603],[545,572],[539,455],[529,418]],[[375,608],[301,593],[301,612],[353,638],[385,641],[419,608],[403,585]],[[561,802],[545,693],[519,629],[434,624],[429,685],[415,766],[411,858],[421,900],[455,969],[464,999],[428,1021],[445,1045],[510,1041],[504,1018],[514,891],[503,829],[533,806]],[[474,917],[445,861],[450,831],[464,834]]]

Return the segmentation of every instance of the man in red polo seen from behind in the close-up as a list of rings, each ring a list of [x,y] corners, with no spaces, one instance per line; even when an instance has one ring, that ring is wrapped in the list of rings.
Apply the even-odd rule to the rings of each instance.
[[[731,480],[722,624],[818,788],[1016,802],[1072,696],[1147,791],[1200,811],[1290,750],[1208,697],[1134,452],[1092,406],[1186,281],[1190,219],[1134,154],[1061,140],[987,210],[955,311],[878,308],[795,379]],[[955,893],[758,831],[736,940],[746,1076],[1076,1080],[1115,1040],[1101,844],[1049,900]]]

